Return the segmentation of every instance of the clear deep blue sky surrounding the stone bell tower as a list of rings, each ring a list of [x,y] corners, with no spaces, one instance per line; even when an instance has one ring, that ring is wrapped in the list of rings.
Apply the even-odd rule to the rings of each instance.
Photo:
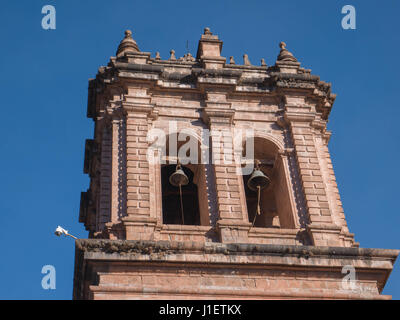
[[[56,29],[41,27],[44,5]],[[341,8],[356,8],[356,30]],[[361,247],[400,249],[400,2],[382,1],[41,1],[0,7],[0,299],[71,299],[74,242],[62,225],[78,223],[88,78],[114,56],[125,29],[142,51],[195,55],[204,27],[242,63],[275,62],[280,41],[337,93],[329,128],[333,165],[350,231]],[[56,290],[41,270],[56,268]],[[384,290],[400,299],[397,262]]]

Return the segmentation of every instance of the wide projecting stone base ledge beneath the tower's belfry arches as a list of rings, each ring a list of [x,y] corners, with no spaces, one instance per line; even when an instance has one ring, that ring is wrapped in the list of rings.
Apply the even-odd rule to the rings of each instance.
[[[398,254],[398,250],[342,247],[79,239],[74,299],[390,299],[379,293]],[[358,291],[341,289],[344,265],[356,269]],[[116,283],[121,268],[126,279],[139,274],[140,281]],[[176,271],[171,273],[171,268]],[[207,275],[209,281],[226,280],[223,285],[199,285],[197,273]],[[238,281],[245,283],[244,276],[265,284],[236,287]],[[159,280],[143,282],[148,277]],[[275,285],[266,277],[274,279]],[[171,286],[171,281],[179,285]]]

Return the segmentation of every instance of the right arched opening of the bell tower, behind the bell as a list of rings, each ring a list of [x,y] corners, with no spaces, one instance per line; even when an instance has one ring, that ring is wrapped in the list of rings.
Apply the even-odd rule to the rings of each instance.
[[[246,144],[246,142],[245,142]],[[245,148],[244,148],[245,150]],[[244,193],[248,219],[254,227],[293,228],[293,214],[290,204],[290,189],[279,148],[275,143],[260,137],[254,138],[254,156],[246,164],[259,162],[259,170],[270,179],[268,187],[260,191],[260,214],[257,214],[258,192],[248,186],[252,173],[243,174]]]

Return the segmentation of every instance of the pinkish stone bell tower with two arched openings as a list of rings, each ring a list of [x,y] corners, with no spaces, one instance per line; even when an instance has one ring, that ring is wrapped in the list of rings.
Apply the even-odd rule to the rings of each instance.
[[[126,31],[89,81],[74,298],[390,298],[398,251],[359,248],[343,214],[330,84],[283,42],[272,66],[221,49],[206,28],[196,57],[162,60]]]

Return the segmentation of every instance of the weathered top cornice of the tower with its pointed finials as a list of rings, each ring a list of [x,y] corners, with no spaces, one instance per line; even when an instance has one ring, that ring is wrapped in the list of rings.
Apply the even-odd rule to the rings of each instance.
[[[300,68],[299,62],[286,49],[285,43],[280,44],[278,60],[271,67],[253,66],[247,58],[244,65],[220,65],[225,61],[220,55],[221,46],[222,41],[218,36],[206,28],[200,40],[200,56],[197,59],[186,53],[184,57],[176,57],[173,61],[161,60],[159,54],[156,58],[150,58],[150,53],[140,52],[132,39],[132,33],[126,31],[120,44],[119,57],[112,57],[106,67],[99,68],[96,79],[89,82],[88,117],[96,118],[97,113],[102,111],[99,110],[102,107],[98,105],[98,101],[108,99],[108,91],[112,92],[120,85],[129,86],[130,82],[146,81],[155,90],[167,88],[204,93],[210,88],[219,87],[238,94],[285,95],[286,92],[297,92],[313,101],[323,119],[328,118],[335,100],[335,95],[330,91],[330,83],[312,75],[311,70]],[[209,63],[204,63],[204,60]],[[209,106],[218,107],[212,102]],[[225,106],[221,105],[221,108],[228,109],[230,105],[227,103]]]

